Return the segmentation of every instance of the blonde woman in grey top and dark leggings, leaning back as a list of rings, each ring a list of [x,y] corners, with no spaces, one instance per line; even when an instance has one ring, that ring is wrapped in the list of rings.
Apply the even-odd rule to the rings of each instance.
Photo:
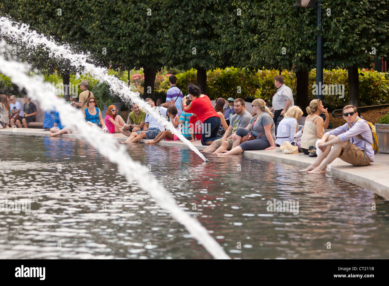
[[[275,148],[275,126],[272,118],[272,113],[265,106],[263,99],[257,98],[252,102],[252,110],[257,114],[251,119],[246,128],[239,127],[237,132],[232,135],[234,140],[231,151],[223,151],[220,155],[237,155],[245,150],[270,150]],[[240,144],[240,139],[252,132],[254,140],[246,141]]]

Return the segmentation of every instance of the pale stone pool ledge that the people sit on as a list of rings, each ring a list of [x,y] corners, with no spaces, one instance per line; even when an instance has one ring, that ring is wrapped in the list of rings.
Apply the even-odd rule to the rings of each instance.
[[[33,136],[49,136],[49,132],[43,129],[35,128],[4,128],[0,129],[0,134],[16,134],[16,135],[33,135]],[[115,133],[112,134],[118,141],[124,141],[127,137],[123,134]],[[61,137],[64,138],[79,138],[81,135],[77,134],[63,134]],[[148,141],[148,140],[142,140]],[[160,146],[180,147],[188,148],[181,141],[161,141],[158,143]],[[204,150],[206,146],[202,146],[200,141],[193,142],[199,150]],[[258,151],[245,151],[243,156],[247,156],[253,159],[273,161],[276,163],[283,163],[292,165],[299,168],[308,167],[315,158],[298,153],[298,154],[282,154],[279,147],[273,150],[258,150]],[[354,167],[348,163],[343,162],[340,159],[336,159],[331,163],[331,171],[327,174],[343,179],[345,181],[352,182],[366,189],[374,191],[378,195],[389,198],[389,154],[378,153],[375,155],[375,161],[366,167]]]

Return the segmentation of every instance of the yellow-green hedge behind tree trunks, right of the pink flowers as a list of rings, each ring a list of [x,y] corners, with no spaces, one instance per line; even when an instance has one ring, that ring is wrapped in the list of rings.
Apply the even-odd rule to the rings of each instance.
[[[389,73],[376,72],[370,70],[359,70],[364,76],[359,76],[359,94],[361,106],[387,104],[389,103]],[[271,103],[272,97],[276,91],[274,86],[274,76],[279,74],[278,70],[259,70],[255,74],[246,73],[238,68],[226,68],[224,70],[216,69],[207,72],[207,95],[211,99],[218,97],[241,97],[241,98],[262,98]],[[296,99],[296,74],[284,70],[281,72],[285,79],[285,84],[289,86]],[[313,84],[316,83],[316,70],[308,73],[308,98],[314,99]],[[191,69],[186,72],[176,74],[177,86],[186,93],[186,84],[188,82],[196,83],[196,70]],[[347,70],[333,69],[324,70],[323,74],[325,84],[344,84],[344,97],[340,95],[324,95],[324,106],[329,110],[342,108],[349,102],[349,82]],[[237,93],[237,87],[241,87],[241,93]],[[158,85],[156,93],[161,97],[166,96],[169,88],[168,80]],[[302,107],[305,109],[305,107]]]

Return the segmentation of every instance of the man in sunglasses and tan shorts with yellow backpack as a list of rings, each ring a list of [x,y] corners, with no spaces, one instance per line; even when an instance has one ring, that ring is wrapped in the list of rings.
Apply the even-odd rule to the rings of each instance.
[[[302,171],[326,173],[327,165],[338,157],[354,166],[367,166],[374,161],[373,133],[367,121],[358,116],[354,105],[343,107],[343,119],[346,121],[344,125],[324,133],[317,146],[322,152],[312,165]]]

